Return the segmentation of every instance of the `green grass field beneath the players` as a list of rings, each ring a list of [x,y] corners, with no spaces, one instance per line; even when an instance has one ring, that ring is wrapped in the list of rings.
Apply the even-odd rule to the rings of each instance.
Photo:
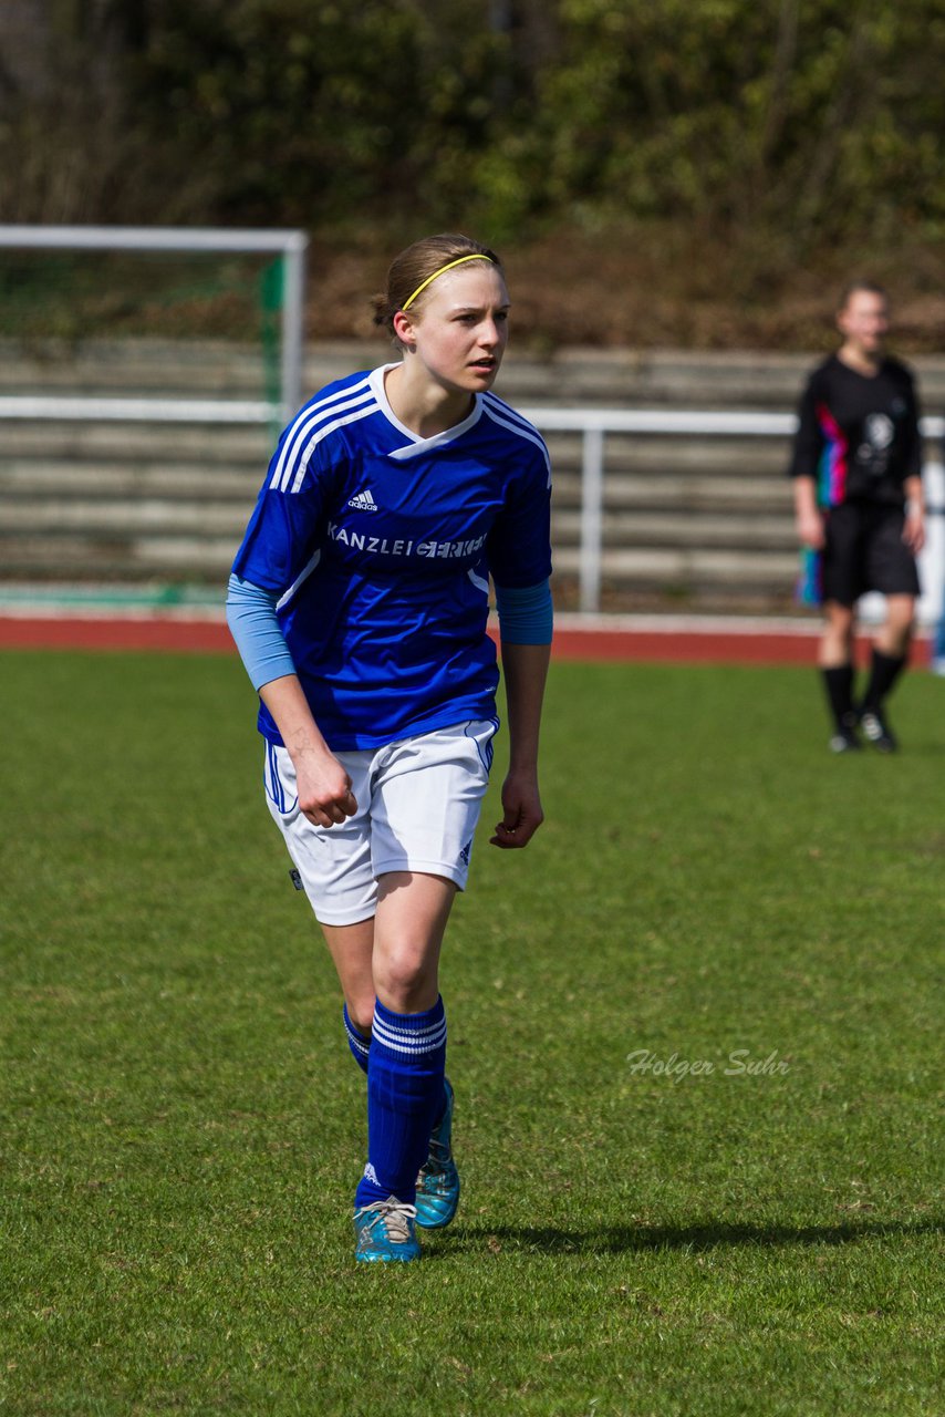
[[[238,662],[0,666],[0,1413],[942,1413],[941,682],[836,760],[806,670],[554,667],[445,952],[463,1204],[391,1270]]]

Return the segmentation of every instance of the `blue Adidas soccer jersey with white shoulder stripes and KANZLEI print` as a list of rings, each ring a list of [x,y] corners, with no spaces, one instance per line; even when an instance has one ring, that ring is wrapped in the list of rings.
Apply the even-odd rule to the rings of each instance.
[[[387,368],[323,388],[269,463],[234,572],[279,595],[315,720],[334,751],[496,711],[489,575],[551,574],[551,468],[494,394],[432,438],[401,424]],[[282,743],[266,710],[259,730]]]

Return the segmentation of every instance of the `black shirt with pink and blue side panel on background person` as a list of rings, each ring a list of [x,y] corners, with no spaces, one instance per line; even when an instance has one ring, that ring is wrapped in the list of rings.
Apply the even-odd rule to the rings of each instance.
[[[813,478],[822,507],[902,506],[902,483],[922,470],[915,383],[905,364],[885,359],[868,378],[832,354],[810,376],[798,417],[791,476]]]

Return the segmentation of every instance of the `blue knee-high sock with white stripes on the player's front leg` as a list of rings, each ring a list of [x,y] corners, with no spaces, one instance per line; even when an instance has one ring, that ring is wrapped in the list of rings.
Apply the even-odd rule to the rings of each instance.
[[[356,1206],[388,1196],[414,1204],[417,1172],[442,1108],[445,1067],[443,1000],[424,1013],[392,1013],[378,999],[367,1067],[367,1166]]]

